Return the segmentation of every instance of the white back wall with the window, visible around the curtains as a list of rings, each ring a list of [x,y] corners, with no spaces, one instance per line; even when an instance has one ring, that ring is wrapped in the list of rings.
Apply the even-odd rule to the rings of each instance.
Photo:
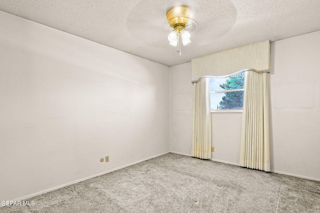
[[[271,42],[270,47],[271,171],[318,181],[319,37],[320,31],[317,31]],[[192,103],[186,101],[193,97],[190,72],[190,63],[170,67],[170,146],[171,151],[185,155],[190,155],[192,136]],[[182,106],[186,108],[184,114]],[[212,146],[215,147],[212,160],[238,164],[240,116],[211,114]]]

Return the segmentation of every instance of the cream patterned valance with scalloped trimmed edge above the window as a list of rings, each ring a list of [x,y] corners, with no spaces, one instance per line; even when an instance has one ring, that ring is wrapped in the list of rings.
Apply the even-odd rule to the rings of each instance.
[[[205,75],[225,76],[244,69],[269,70],[268,40],[236,47],[191,60],[192,82]]]

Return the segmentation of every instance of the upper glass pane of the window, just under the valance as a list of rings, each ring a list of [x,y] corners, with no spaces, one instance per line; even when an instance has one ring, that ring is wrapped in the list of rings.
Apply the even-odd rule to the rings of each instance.
[[[228,78],[210,78],[210,92],[244,88],[244,72]]]

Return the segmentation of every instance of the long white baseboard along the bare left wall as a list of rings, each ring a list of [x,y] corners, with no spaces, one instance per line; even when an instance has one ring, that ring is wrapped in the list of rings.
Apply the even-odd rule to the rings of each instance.
[[[70,182],[70,183],[63,184],[63,185],[60,185],[60,186],[57,186],[57,187],[53,187],[53,188],[51,188],[51,189],[43,190],[43,191],[41,191],[41,192],[37,192],[37,193],[31,194],[31,195],[28,195],[28,196],[24,196],[24,197],[15,199],[15,200],[13,200],[13,201],[23,201],[23,200],[26,200],[26,199],[28,199],[28,198],[32,198],[32,197],[34,197],[34,196],[42,195],[42,194],[47,193],[47,192],[51,192],[51,191],[54,191],[54,190],[57,190],[57,189],[60,189],[60,188],[66,187],[66,186],[70,186],[70,185],[72,185],[72,184],[76,184],[76,183],[79,183],[79,182],[82,182],[82,181],[85,181],[85,180],[88,180],[88,179],[91,179],[91,178],[95,178],[95,177],[100,176],[100,175],[104,175],[104,174],[107,174],[107,173],[110,173],[110,172],[113,172],[113,171],[116,171],[116,170],[119,170],[119,169],[122,169],[122,168],[125,168],[125,167],[129,167],[129,166],[132,166],[132,165],[134,165],[134,164],[138,164],[138,163],[141,163],[141,162],[143,162],[143,161],[147,161],[147,160],[149,160],[149,159],[151,159],[151,158],[156,158],[156,157],[159,157],[159,156],[161,156],[161,155],[165,155],[165,154],[167,154],[167,153],[169,153],[169,152],[165,152],[165,153],[162,153],[162,154],[159,154],[159,155],[155,155],[155,156],[152,156],[152,157],[149,157],[149,158],[145,158],[145,159],[143,159],[143,160],[136,161],[136,162],[133,162],[133,163],[131,163],[131,164],[126,164],[126,165],[124,165],[124,166],[117,167],[117,168],[115,168],[115,169],[111,169],[111,170],[108,170],[108,171],[105,171],[105,172],[102,172],[102,173],[98,173],[98,174],[95,174],[95,175],[91,175],[91,176],[86,177],[86,178],[81,178],[81,179],[79,179],[79,180],[72,181],[72,182]],[[0,205],[0,207],[1,207],[1,205]]]

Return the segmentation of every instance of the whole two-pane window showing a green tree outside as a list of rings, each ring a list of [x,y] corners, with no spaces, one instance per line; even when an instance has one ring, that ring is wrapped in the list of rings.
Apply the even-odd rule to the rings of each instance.
[[[210,78],[211,111],[242,110],[244,72],[227,78]]]

